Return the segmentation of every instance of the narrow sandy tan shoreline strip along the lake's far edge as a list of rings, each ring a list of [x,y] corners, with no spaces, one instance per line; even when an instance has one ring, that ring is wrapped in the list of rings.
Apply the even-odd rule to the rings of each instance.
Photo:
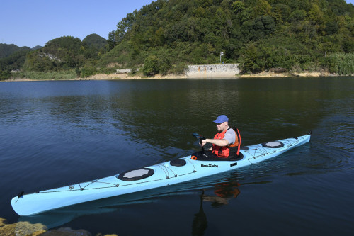
[[[219,77],[188,77],[185,74],[156,74],[154,77],[146,77],[142,75],[130,76],[125,73],[120,74],[95,74],[86,78],[74,78],[74,79],[28,79],[28,78],[11,78],[5,79],[1,82],[21,82],[21,81],[55,81],[55,80],[126,80],[126,79],[239,79],[239,78],[285,78],[285,77],[337,77],[339,74],[331,74],[329,72],[301,72],[301,73],[275,73],[275,72],[261,72],[258,74],[239,74],[233,77],[224,76],[220,74]],[[350,76],[350,75],[349,75]]]

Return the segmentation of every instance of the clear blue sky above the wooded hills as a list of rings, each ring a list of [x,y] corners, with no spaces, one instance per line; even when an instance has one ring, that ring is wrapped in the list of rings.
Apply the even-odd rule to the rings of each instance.
[[[108,38],[117,23],[152,0],[0,0],[0,43],[44,46],[62,36]],[[346,0],[354,5],[354,0]]]

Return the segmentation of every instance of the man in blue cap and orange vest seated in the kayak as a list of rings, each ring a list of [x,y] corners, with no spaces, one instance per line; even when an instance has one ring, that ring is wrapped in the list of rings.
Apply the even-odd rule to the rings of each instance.
[[[229,127],[229,118],[225,115],[218,116],[214,122],[217,123],[218,133],[212,139],[207,138],[201,141],[202,147],[207,143],[211,143],[212,147],[205,152],[193,154],[195,159],[227,160],[239,157],[241,145],[239,130],[235,131]]]

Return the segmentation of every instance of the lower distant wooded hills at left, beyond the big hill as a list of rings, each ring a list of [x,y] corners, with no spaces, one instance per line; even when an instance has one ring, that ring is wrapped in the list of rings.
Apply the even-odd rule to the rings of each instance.
[[[103,53],[106,44],[107,40],[96,33],[87,35],[82,41],[72,36],[55,38],[44,47],[1,44],[0,72],[6,72],[8,77],[9,72],[21,69],[45,72],[79,67],[89,58],[98,59],[98,52]]]

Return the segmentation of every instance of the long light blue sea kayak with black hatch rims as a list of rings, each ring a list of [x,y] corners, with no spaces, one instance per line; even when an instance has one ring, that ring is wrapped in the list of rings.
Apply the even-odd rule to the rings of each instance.
[[[28,194],[21,192],[12,198],[11,205],[18,215],[35,215],[78,203],[179,184],[276,157],[309,142],[310,137],[311,133],[241,147],[241,158],[234,160],[195,160],[188,156],[57,189]]]

